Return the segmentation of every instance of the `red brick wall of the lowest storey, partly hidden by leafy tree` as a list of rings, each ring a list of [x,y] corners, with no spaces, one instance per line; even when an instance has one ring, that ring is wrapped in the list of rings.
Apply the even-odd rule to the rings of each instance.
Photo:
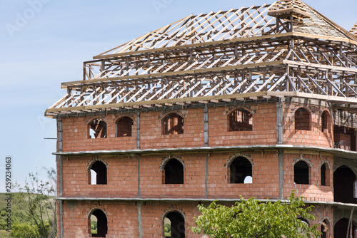
[[[119,201],[65,201],[64,237],[91,237],[88,226],[89,213],[92,209],[99,208],[103,210],[108,217],[107,238],[137,238],[139,237],[137,205],[137,202]],[[231,204],[225,203],[225,205],[229,206]],[[193,234],[191,229],[189,229],[189,227],[195,225],[195,219],[193,217],[198,217],[200,214],[197,206],[198,202],[142,202],[141,221],[143,238],[164,238],[163,219],[167,212],[173,210],[181,212],[185,218],[186,237],[202,237],[202,234]],[[320,229],[323,219],[333,217],[333,210],[331,207],[316,206],[313,208],[311,214],[313,214],[316,219],[308,222],[311,225],[318,224],[318,229]],[[329,218],[329,220],[331,224],[333,224],[333,220],[331,218]],[[332,229],[330,230],[330,234],[331,232]]]

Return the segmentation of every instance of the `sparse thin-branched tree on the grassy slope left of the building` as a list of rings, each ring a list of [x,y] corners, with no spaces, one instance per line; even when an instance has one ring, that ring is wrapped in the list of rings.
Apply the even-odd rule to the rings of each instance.
[[[50,170],[48,175],[49,180],[56,184],[56,172]],[[14,186],[19,192],[14,197],[11,237],[56,237],[54,186],[49,181],[39,180],[37,172],[29,174],[29,181],[26,179],[24,187]]]

